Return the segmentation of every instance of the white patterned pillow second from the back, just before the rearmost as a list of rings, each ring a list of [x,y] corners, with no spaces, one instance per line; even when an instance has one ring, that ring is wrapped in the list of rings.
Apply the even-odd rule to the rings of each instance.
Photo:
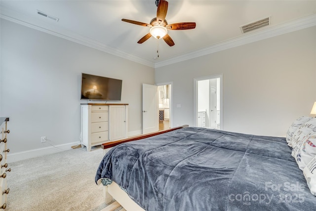
[[[292,148],[306,139],[310,132],[316,132],[316,118],[309,120],[301,125],[294,133],[291,141]]]

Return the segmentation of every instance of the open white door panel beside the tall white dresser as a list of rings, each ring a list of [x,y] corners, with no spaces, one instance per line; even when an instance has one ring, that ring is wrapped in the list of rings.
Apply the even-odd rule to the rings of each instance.
[[[158,131],[158,112],[157,86],[143,84],[143,134]]]

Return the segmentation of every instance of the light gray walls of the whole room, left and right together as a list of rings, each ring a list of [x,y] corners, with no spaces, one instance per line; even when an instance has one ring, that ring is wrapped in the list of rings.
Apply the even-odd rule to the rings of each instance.
[[[123,80],[134,134],[142,129],[143,83],[173,83],[174,127],[193,126],[197,77],[223,74],[221,112],[230,131],[284,136],[316,100],[316,27],[156,70],[2,19],[0,30],[0,114],[10,117],[11,155],[79,142],[81,72]]]

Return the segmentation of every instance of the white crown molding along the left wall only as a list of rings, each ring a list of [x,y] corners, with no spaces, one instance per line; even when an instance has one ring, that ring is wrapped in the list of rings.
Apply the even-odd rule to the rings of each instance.
[[[7,15],[7,14],[11,14],[11,16]],[[119,56],[121,58],[124,59],[128,59],[130,61],[133,62],[137,62],[149,67],[154,67],[154,63],[151,61],[148,61],[146,59],[143,59],[139,56],[136,56],[134,54],[128,53],[126,51],[120,50],[118,48],[114,48],[112,46],[109,46],[103,42],[98,42],[96,40],[87,38],[85,36],[81,36],[77,33],[73,33],[69,30],[65,30],[65,29],[61,29],[52,25],[49,25],[45,22],[39,21],[35,18],[29,17],[27,15],[23,15],[19,12],[16,12],[14,10],[11,10],[7,7],[3,7],[1,6],[1,13],[0,13],[0,18],[32,28],[32,29],[36,29],[39,30],[41,32],[56,36],[56,37],[60,37],[72,42],[77,42],[79,44],[88,46],[88,47],[92,47],[95,49],[98,49],[100,51],[106,52],[106,53],[110,53],[112,55],[116,55]],[[35,23],[35,24],[31,24],[31,23]],[[48,29],[52,29],[52,30],[48,30]]]

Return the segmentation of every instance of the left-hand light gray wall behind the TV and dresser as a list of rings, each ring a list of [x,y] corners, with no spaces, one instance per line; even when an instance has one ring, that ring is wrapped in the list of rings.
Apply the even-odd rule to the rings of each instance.
[[[154,68],[1,19],[0,113],[10,117],[10,154],[79,142],[82,72],[123,80],[128,130],[140,134],[142,84],[154,84]]]

